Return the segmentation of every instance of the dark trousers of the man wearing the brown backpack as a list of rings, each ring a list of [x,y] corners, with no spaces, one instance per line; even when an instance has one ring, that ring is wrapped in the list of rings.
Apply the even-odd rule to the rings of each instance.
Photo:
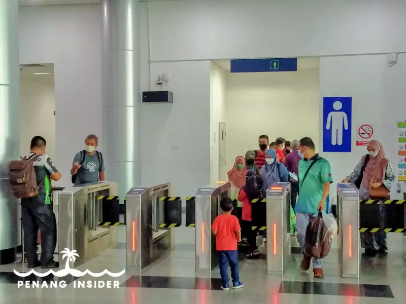
[[[53,261],[56,246],[56,219],[52,205],[27,202],[21,204],[21,222],[24,231],[24,250],[29,265],[35,265],[37,256],[37,233],[41,232],[41,265]]]

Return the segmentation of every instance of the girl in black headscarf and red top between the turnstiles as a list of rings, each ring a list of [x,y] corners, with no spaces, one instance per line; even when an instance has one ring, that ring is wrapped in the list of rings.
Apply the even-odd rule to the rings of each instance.
[[[249,253],[247,258],[254,259],[259,257],[257,246],[257,233],[251,229],[252,227],[252,206],[251,202],[254,199],[261,199],[261,191],[256,183],[256,174],[254,170],[248,170],[246,175],[245,185],[240,189],[238,200],[243,203],[242,225],[247,236],[249,244]]]

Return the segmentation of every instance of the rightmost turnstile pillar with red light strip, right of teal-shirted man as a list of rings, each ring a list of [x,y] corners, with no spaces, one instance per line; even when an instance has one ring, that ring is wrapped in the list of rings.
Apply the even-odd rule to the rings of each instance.
[[[359,191],[354,184],[337,183],[339,263],[343,278],[359,278]]]

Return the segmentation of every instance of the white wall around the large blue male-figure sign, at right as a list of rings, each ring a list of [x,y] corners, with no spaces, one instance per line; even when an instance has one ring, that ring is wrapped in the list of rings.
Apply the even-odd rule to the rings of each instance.
[[[322,138],[323,97],[352,96],[351,153],[320,153],[332,168],[334,181],[341,181],[350,174],[365,147],[355,146],[358,126],[371,124],[373,138],[384,146],[386,157],[397,167],[396,121],[406,120],[406,55],[389,67],[386,55],[325,57],[320,59],[320,138]],[[320,144],[322,150],[322,143]],[[396,170],[397,171],[397,170]],[[396,187],[394,187],[396,188]],[[332,187],[332,192],[335,186]]]

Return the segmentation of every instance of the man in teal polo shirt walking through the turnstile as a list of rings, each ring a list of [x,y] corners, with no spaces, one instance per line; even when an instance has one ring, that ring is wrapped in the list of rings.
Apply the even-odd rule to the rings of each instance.
[[[316,154],[311,138],[303,137],[300,139],[299,151],[303,155],[303,159],[299,161],[298,170],[299,198],[295,206],[296,237],[301,248],[303,248],[306,228],[311,218],[317,216],[319,210],[324,210],[333,178],[330,164]],[[311,260],[310,256],[305,255],[300,265],[301,269],[309,270]],[[324,276],[320,259],[313,258],[313,273],[315,278]]]

